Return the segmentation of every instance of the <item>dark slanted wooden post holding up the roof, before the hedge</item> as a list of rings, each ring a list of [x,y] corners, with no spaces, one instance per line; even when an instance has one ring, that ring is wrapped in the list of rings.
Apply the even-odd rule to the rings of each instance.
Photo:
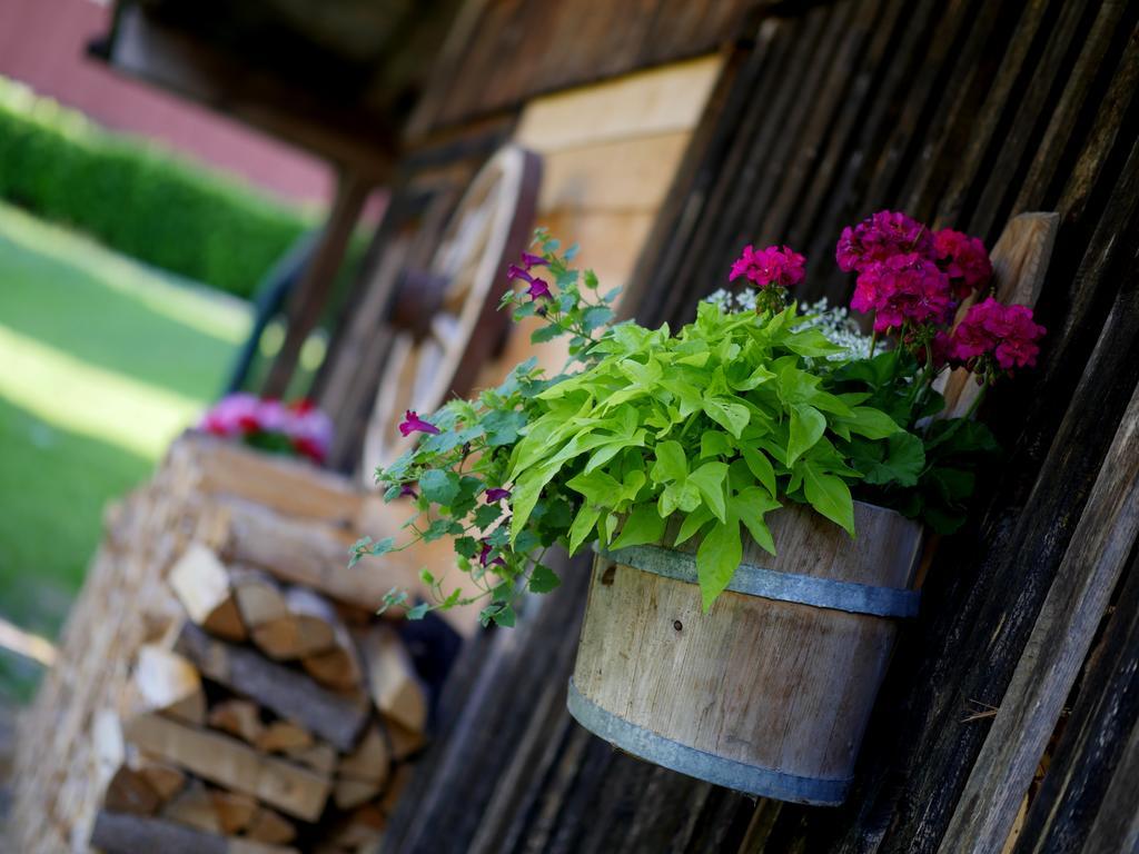
[[[262,394],[282,397],[288,389],[301,347],[320,320],[320,312],[328,302],[333,282],[352,238],[352,230],[371,188],[370,180],[352,170],[345,169],[339,173],[328,222],[325,223],[312,262],[289,301],[285,340],[273,359]]]

